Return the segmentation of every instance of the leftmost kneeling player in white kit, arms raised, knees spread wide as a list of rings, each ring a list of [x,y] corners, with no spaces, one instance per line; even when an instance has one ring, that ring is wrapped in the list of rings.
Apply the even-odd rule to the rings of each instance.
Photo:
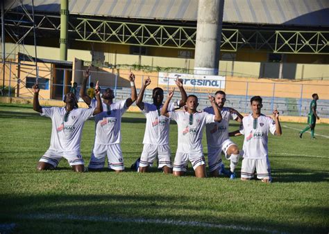
[[[64,97],[65,107],[41,107],[39,91],[39,87],[35,84],[33,109],[42,116],[51,118],[53,127],[50,147],[37,164],[37,170],[54,169],[60,160],[65,158],[74,171],[84,172],[85,166],[80,152],[81,134],[85,121],[102,111],[98,84],[96,84],[96,99],[99,104],[90,109],[78,108],[78,100],[71,92]]]

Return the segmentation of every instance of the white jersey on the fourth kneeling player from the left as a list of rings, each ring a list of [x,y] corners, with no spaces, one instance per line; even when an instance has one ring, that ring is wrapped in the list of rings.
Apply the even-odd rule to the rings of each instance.
[[[178,125],[177,152],[202,153],[203,128],[207,123],[214,122],[214,115],[206,112],[189,114],[185,111],[171,111],[169,116]]]

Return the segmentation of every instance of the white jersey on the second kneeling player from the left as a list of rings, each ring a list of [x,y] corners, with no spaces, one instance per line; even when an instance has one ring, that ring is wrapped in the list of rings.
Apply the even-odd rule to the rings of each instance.
[[[90,106],[96,107],[97,100],[92,100]],[[121,142],[121,116],[128,109],[126,100],[106,105],[102,102],[103,112],[95,116],[95,143],[112,145]]]

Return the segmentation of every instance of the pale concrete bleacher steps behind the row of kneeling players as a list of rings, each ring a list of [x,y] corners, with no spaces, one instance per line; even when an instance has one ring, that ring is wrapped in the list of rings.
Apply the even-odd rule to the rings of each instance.
[[[137,89],[137,93],[139,93],[139,89]],[[193,93],[187,93],[187,95]],[[165,91],[165,98],[167,98],[167,91]],[[205,107],[210,106],[210,102],[208,100],[208,93],[194,93],[199,98],[199,107],[198,110],[201,111]],[[126,100],[126,98],[130,97],[130,88],[121,88],[116,90],[116,98],[115,100]],[[237,111],[241,113],[250,113],[250,99],[252,96],[234,96],[227,95],[226,96],[226,107],[232,107],[237,109]],[[180,100],[180,92],[175,91],[174,97],[172,100]],[[299,98],[272,98],[272,97],[262,97],[263,99],[263,107],[262,113],[270,115],[273,113],[273,109],[277,107],[280,114],[283,116],[307,116],[310,110],[310,102],[311,99],[302,99]],[[152,89],[146,89],[144,92],[144,102],[153,102],[152,100]],[[135,104],[134,104],[135,105]],[[317,102],[317,111],[319,117],[321,118],[329,118],[329,100],[318,100]]]

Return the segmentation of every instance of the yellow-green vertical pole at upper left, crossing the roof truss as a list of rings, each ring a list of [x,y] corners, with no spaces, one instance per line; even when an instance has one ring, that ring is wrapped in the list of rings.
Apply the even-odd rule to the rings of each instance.
[[[67,60],[67,26],[69,21],[69,1],[60,0],[60,60]]]

